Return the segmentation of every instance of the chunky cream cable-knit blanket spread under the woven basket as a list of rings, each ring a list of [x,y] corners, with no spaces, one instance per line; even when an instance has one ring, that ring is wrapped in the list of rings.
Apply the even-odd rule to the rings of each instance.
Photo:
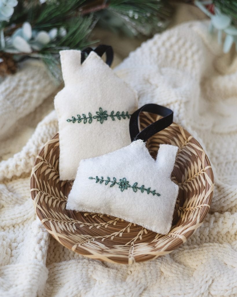
[[[169,255],[131,266],[102,263],[61,246],[36,218],[30,173],[57,132],[52,111],[23,149],[0,162],[0,296],[237,296],[237,58],[206,23],[182,24],[142,44],[116,72],[140,106],[174,110],[204,147],[215,192],[204,224]]]

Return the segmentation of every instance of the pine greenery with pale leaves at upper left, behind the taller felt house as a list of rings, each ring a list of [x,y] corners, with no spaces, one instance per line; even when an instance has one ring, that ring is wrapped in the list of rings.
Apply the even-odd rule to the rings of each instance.
[[[59,51],[96,42],[89,39],[96,24],[150,35],[166,27],[171,12],[165,0],[0,0],[0,68],[9,59],[39,58],[61,80]]]

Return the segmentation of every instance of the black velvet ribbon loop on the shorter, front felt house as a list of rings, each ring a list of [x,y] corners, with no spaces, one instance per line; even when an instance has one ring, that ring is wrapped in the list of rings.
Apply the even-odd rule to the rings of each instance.
[[[154,123],[147,126],[142,131],[139,130],[139,116],[143,111],[154,113],[163,118],[155,121]],[[173,111],[167,107],[157,105],[157,104],[146,104],[136,110],[129,121],[129,132],[131,141],[141,139],[147,141],[151,136],[155,135],[159,131],[169,127],[173,123]]]

